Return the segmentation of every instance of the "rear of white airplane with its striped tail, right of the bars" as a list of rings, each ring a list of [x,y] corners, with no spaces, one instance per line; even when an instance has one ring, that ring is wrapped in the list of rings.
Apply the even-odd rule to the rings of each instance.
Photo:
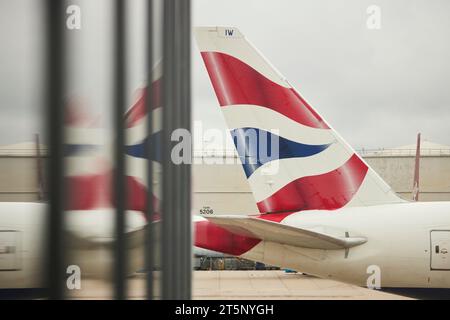
[[[196,245],[358,285],[376,266],[382,287],[450,286],[449,203],[399,198],[238,29],[195,37],[260,211],[197,218]]]

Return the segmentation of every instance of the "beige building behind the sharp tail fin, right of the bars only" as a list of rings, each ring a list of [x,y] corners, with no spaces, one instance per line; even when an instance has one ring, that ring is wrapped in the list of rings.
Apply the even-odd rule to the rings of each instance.
[[[416,145],[360,150],[359,153],[399,196],[412,199]],[[227,164],[223,160],[230,156],[235,157],[234,164]],[[194,163],[197,164],[194,164],[192,173],[195,212],[212,210],[217,214],[258,213],[234,151],[196,153],[195,160]],[[222,164],[211,164],[214,162]],[[422,141],[419,200],[450,201],[450,146]]]

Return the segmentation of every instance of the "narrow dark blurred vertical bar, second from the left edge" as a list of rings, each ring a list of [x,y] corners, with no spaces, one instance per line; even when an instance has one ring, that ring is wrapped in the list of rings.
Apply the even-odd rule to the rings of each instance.
[[[114,254],[114,289],[115,298],[126,298],[126,243],[125,243],[125,1],[115,1],[115,48],[114,48],[114,133],[116,134],[114,159],[114,197],[116,205],[116,241]]]

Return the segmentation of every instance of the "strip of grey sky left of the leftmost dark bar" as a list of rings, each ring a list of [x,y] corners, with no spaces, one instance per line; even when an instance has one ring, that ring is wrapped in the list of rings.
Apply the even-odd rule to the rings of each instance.
[[[32,140],[41,130],[41,13],[40,1],[0,0],[0,144]]]

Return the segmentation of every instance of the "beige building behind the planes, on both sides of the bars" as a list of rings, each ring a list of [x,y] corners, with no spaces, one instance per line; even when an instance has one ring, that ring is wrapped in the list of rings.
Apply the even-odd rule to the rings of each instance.
[[[415,145],[360,150],[369,165],[404,199],[412,198]],[[0,147],[0,201],[39,201],[45,146]],[[256,214],[258,209],[234,150],[194,152],[193,212]],[[422,141],[420,201],[450,201],[450,146]]]

